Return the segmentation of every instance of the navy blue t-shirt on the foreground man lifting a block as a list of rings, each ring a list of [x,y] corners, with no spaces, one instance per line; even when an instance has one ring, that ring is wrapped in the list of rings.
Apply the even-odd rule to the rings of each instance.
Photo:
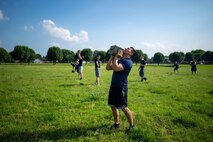
[[[118,60],[119,64],[123,65],[124,70],[113,72],[111,86],[123,87],[128,85],[127,77],[132,69],[132,60],[130,58],[124,58]]]

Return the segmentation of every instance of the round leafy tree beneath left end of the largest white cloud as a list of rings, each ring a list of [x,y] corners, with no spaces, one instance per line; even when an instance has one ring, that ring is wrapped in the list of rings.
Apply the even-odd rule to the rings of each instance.
[[[63,53],[59,47],[52,46],[48,49],[46,58],[49,61],[53,61],[53,64],[56,64],[56,61],[63,59]]]

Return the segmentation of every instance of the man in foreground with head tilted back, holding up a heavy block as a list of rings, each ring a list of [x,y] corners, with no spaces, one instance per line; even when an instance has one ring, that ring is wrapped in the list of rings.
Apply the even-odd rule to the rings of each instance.
[[[120,127],[119,110],[122,110],[128,119],[129,128],[127,129],[127,132],[130,132],[134,128],[133,114],[127,106],[127,78],[132,69],[132,60],[130,57],[134,53],[135,50],[133,47],[126,48],[124,51],[119,50],[115,56],[111,55],[106,65],[106,70],[113,70],[108,105],[112,110],[114,124],[110,129],[117,129]],[[122,58],[119,59],[120,57]]]

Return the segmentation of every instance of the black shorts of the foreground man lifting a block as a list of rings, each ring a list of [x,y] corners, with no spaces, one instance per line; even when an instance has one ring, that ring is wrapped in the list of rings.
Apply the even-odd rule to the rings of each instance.
[[[125,87],[110,87],[108,105],[117,109],[124,109],[127,107],[127,93],[128,88]]]

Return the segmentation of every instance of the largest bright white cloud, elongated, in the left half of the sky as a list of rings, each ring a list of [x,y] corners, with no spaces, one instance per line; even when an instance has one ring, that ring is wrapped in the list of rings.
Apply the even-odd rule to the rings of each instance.
[[[88,41],[88,33],[86,31],[80,31],[80,33],[76,33],[72,35],[68,29],[63,27],[58,27],[52,20],[43,20],[42,26],[46,29],[51,36],[56,38],[60,38],[64,41],[68,42],[85,42]]]

